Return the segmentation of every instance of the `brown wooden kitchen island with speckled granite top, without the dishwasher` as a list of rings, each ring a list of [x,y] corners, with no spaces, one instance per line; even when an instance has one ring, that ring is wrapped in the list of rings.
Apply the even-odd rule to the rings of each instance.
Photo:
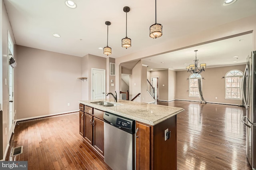
[[[104,157],[104,112],[136,121],[136,169],[153,170],[177,168],[176,115],[184,109],[133,101],[104,99],[79,101],[80,134]],[[109,104],[108,103],[108,104]],[[108,105],[110,106],[110,105]],[[168,130],[167,130],[168,129]],[[170,132],[166,139],[166,132]]]

